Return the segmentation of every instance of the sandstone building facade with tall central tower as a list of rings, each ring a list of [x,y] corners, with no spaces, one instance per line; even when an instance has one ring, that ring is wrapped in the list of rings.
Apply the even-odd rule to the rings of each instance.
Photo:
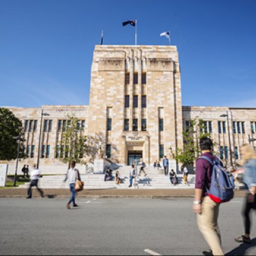
[[[67,115],[78,118],[81,134],[100,138],[95,140],[100,141],[96,147],[104,157],[124,165],[141,157],[150,165],[164,155],[172,159],[176,149],[182,148],[183,129],[194,119],[204,120],[205,132],[211,133],[215,142],[214,150],[226,162],[231,151],[236,163],[239,147],[256,137],[256,108],[182,106],[175,46],[96,45],[89,106],[9,109],[24,124],[28,158],[20,164],[35,163],[40,147],[44,173],[66,171],[60,163],[65,157],[60,148]],[[42,110],[49,115],[42,116]],[[250,143],[256,146],[255,141]],[[14,172],[14,161],[10,172]]]

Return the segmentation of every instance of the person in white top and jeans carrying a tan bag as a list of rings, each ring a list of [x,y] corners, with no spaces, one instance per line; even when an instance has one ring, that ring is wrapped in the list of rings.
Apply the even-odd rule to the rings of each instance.
[[[66,174],[66,178],[64,180],[64,182],[66,182],[66,180],[68,180],[69,183],[69,188],[71,191],[71,197],[70,200],[68,201],[68,204],[66,205],[67,209],[70,209],[70,204],[73,204],[73,207],[78,207],[78,205],[76,204],[76,189],[75,189],[75,184],[76,184],[76,180],[81,180],[80,179],[80,174],[79,171],[75,168],[76,166],[76,162],[72,161],[70,163],[70,168],[67,171]]]

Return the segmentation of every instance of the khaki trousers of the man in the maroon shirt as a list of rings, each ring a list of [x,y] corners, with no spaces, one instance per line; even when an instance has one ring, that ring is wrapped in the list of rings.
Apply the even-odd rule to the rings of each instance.
[[[213,202],[209,196],[205,196],[202,200],[202,214],[197,214],[198,228],[213,255],[224,255],[218,226],[219,209],[220,204]]]

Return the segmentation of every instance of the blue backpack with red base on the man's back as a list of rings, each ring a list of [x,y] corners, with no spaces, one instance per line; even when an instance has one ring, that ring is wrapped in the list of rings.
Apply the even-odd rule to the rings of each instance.
[[[216,203],[228,202],[234,197],[234,177],[229,177],[225,168],[221,166],[220,159],[215,157],[212,161],[207,156],[201,156],[200,158],[207,160],[212,164],[212,178],[210,189],[207,189],[207,193],[211,200]]]

